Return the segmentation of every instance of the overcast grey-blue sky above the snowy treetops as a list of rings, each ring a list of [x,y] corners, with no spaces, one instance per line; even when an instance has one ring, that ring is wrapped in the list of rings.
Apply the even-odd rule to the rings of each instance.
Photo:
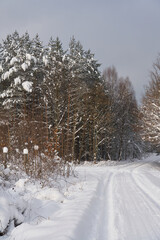
[[[160,53],[160,0],[0,0],[0,42],[15,30],[44,44],[72,36],[91,49],[100,70],[129,77],[140,102]]]

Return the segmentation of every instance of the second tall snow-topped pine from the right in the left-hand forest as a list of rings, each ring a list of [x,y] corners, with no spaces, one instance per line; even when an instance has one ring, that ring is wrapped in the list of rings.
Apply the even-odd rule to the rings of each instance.
[[[63,127],[66,112],[65,85],[68,68],[66,52],[59,38],[50,39],[43,56],[45,78],[43,92],[46,99],[46,119],[48,122],[47,148],[49,153],[63,157]],[[61,148],[60,148],[61,144]]]

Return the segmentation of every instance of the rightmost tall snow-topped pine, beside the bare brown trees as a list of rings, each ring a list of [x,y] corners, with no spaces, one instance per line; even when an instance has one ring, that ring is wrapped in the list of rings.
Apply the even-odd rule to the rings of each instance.
[[[98,81],[99,72],[93,68],[96,62],[93,55],[90,51],[84,51],[81,43],[76,41],[74,37],[69,43],[67,56],[70,77],[67,84],[66,152],[74,160],[80,159],[82,156],[82,139],[84,139],[82,132],[87,119],[83,115],[84,104],[82,102],[84,102],[85,93],[90,88],[91,83],[93,86],[94,81]],[[98,64],[96,66],[98,67]],[[95,76],[93,72],[97,75]],[[72,151],[70,152],[69,149]]]

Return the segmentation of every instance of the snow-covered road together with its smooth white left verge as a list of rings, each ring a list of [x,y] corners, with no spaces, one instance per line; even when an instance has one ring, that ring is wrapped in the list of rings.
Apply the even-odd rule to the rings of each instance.
[[[79,178],[56,207],[51,206],[55,201],[50,202],[47,217],[39,222],[26,219],[1,238],[160,240],[159,160],[153,156],[114,166],[78,167]]]

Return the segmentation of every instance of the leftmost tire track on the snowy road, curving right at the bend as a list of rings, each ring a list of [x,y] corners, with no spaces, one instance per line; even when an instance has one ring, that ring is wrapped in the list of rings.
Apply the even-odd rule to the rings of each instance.
[[[122,240],[123,238],[119,237],[119,229],[116,225],[117,219],[120,217],[119,209],[116,209],[115,201],[115,189],[114,184],[119,175],[125,173],[131,174],[135,168],[144,166],[146,163],[131,163],[128,165],[123,165],[117,169],[111,167],[111,172],[108,178],[103,179],[103,191],[100,203],[100,213],[97,217],[97,222],[99,224],[96,226],[96,234],[92,240]],[[129,176],[128,175],[128,176]],[[114,181],[115,180],[115,181]],[[124,199],[125,200],[125,199]],[[136,203],[135,203],[136,204]]]

